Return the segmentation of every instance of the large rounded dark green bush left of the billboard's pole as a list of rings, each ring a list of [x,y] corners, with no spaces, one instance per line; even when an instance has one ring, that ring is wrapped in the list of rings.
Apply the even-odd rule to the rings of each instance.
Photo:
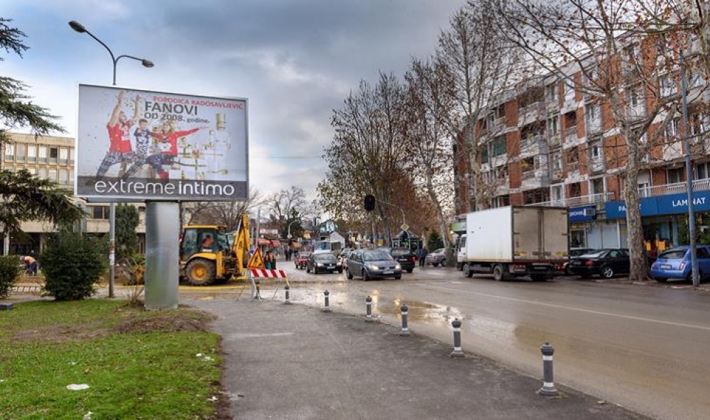
[[[60,231],[40,256],[45,290],[56,300],[79,300],[94,294],[107,267],[99,239]]]

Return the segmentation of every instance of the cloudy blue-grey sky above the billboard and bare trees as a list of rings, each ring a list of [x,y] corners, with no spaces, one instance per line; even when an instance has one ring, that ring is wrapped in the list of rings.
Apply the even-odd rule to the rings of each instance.
[[[6,55],[0,74],[31,85],[33,101],[77,131],[77,84],[111,84],[101,45],[121,60],[119,86],[249,99],[250,183],[306,190],[324,177],[332,109],[378,70],[401,75],[426,57],[464,0],[0,0],[1,16],[31,49]]]

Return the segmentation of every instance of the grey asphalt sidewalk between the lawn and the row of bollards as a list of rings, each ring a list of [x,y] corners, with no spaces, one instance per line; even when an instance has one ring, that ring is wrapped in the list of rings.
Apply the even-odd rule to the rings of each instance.
[[[218,317],[234,419],[643,419],[450,344],[298,304],[185,299]],[[540,362],[542,372],[542,362]],[[542,373],[541,373],[542,375]]]

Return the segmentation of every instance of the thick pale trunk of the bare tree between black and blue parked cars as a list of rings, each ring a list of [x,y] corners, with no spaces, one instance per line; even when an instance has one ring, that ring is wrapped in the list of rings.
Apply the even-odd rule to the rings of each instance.
[[[628,162],[626,164],[626,232],[627,245],[630,254],[629,280],[643,282],[648,278],[648,261],[646,260],[645,244],[643,242],[643,225],[641,222],[640,201],[638,197],[638,145],[628,142]]]

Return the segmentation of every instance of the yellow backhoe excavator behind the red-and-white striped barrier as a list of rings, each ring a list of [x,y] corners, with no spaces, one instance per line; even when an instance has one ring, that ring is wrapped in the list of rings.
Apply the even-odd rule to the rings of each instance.
[[[249,262],[249,216],[230,233],[226,226],[183,226],[180,238],[180,278],[194,286],[244,280]]]

